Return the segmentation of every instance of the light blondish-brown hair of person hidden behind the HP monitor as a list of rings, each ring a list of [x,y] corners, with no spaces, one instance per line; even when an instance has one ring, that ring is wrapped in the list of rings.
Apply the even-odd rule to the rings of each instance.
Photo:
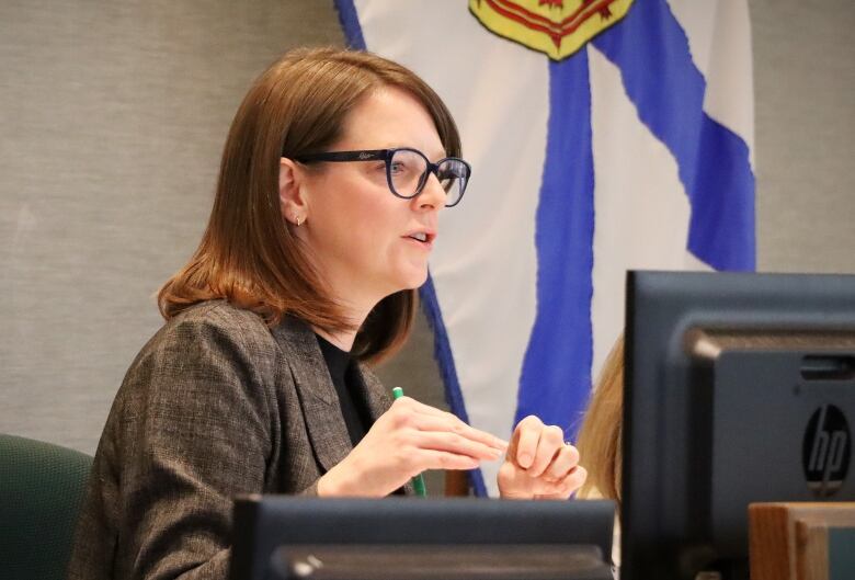
[[[624,336],[617,338],[606,357],[585,412],[577,448],[588,470],[580,496],[598,491],[620,505],[620,439],[624,412]]]

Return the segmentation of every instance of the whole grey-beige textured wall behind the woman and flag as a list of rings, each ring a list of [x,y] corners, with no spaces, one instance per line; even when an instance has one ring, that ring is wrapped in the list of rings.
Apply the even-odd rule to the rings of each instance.
[[[331,1],[0,2],[0,432],[92,452],[251,79]],[[855,272],[855,4],[754,0],[759,264]],[[381,368],[442,403],[423,321]]]

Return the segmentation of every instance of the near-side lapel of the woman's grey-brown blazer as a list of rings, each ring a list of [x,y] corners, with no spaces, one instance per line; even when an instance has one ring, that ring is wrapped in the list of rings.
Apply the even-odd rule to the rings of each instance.
[[[273,329],[273,336],[294,376],[315,455],[329,471],[353,445],[318,339],[306,323],[293,318],[283,320]]]

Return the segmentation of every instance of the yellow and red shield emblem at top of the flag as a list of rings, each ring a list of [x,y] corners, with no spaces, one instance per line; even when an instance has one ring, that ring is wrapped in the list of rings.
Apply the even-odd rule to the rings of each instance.
[[[634,0],[469,0],[489,31],[561,60],[626,15]]]

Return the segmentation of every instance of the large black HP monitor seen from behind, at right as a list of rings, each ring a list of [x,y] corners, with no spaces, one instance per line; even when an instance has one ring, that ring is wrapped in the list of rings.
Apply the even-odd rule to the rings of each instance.
[[[748,580],[748,504],[852,501],[855,276],[629,272],[622,578]]]

